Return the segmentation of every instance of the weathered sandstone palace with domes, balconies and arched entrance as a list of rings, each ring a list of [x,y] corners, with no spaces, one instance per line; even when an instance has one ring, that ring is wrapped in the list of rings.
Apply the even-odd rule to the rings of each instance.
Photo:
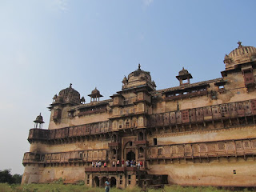
[[[222,78],[157,90],[141,69],[122,89],[90,102],[72,84],[54,95],[50,123],[41,114],[30,129],[22,183],[63,178],[87,186],[256,186],[256,48],[226,54]]]

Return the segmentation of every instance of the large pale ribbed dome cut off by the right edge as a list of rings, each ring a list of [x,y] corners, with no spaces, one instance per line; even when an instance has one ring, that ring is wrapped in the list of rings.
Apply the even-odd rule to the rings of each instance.
[[[252,62],[256,60],[256,48],[254,46],[242,46],[242,42],[238,42],[238,48],[232,50],[230,54],[224,57],[226,70],[234,70],[239,64]]]

